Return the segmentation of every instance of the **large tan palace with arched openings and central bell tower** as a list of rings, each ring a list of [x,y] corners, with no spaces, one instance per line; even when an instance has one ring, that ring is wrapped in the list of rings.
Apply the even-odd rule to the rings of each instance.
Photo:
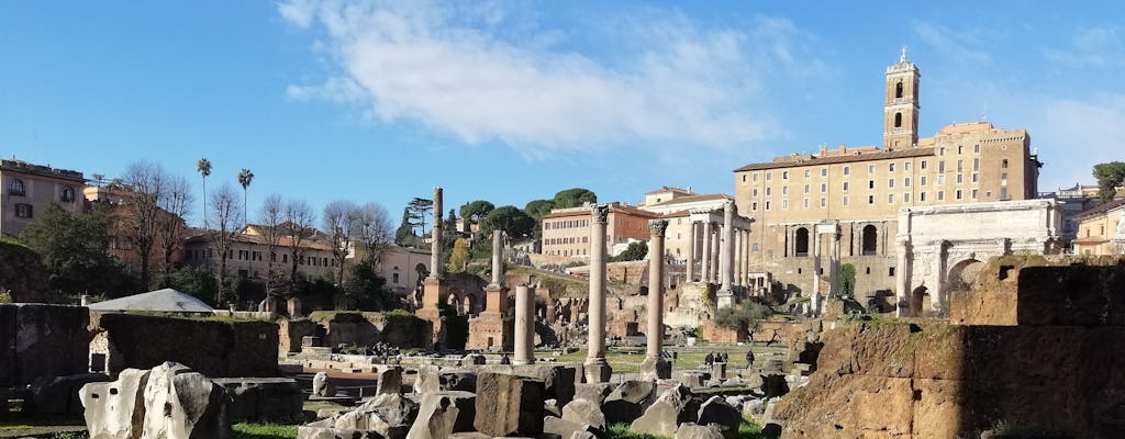
[[[790,293],[811,290],[811,231],[835,220],[856,292],[889,293],[900,209],[1036,198],[1041,163],[1026,130],[971,122],[918,138],[919,79],[904,54],[888,68],[881,148],[821,147],[735,170],[738,211],[756,225],[752,272],[772,273]]]

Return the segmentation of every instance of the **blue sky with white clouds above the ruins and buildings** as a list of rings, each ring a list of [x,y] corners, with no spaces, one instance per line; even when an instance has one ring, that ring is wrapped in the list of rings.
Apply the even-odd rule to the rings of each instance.
[[[1119,2],[902,4],[4,1],[0,156],[191,181],[207,157],[208,188],[253,171],[252,212],[276,192],[396,221],[434,185],[448,207],[730,193],[748,163],[880,144],[907,46],[922,137],[1027,128],[1041,190],[1125,159]]]

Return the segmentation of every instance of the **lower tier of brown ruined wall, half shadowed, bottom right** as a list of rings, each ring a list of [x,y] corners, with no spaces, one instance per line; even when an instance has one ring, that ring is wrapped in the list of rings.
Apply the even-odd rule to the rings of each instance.
[[[858,323],[824,337],[818,372],[774,410],[783,438],[978,437],[998,421],[1125,431],[1123,327]]]

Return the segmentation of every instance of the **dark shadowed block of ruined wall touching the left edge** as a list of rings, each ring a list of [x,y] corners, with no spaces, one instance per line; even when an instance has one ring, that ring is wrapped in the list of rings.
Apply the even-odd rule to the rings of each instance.
[[[89,320],[86,307],[0,304],[0,387],[86,372]]]

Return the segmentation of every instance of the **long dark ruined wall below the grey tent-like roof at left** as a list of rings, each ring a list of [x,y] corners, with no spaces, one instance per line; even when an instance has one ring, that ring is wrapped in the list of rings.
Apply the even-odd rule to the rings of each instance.
[[[279,375],[277,323],[93,313],[90,328],[106,332],[114,375],[164,362],[212,377]]]

